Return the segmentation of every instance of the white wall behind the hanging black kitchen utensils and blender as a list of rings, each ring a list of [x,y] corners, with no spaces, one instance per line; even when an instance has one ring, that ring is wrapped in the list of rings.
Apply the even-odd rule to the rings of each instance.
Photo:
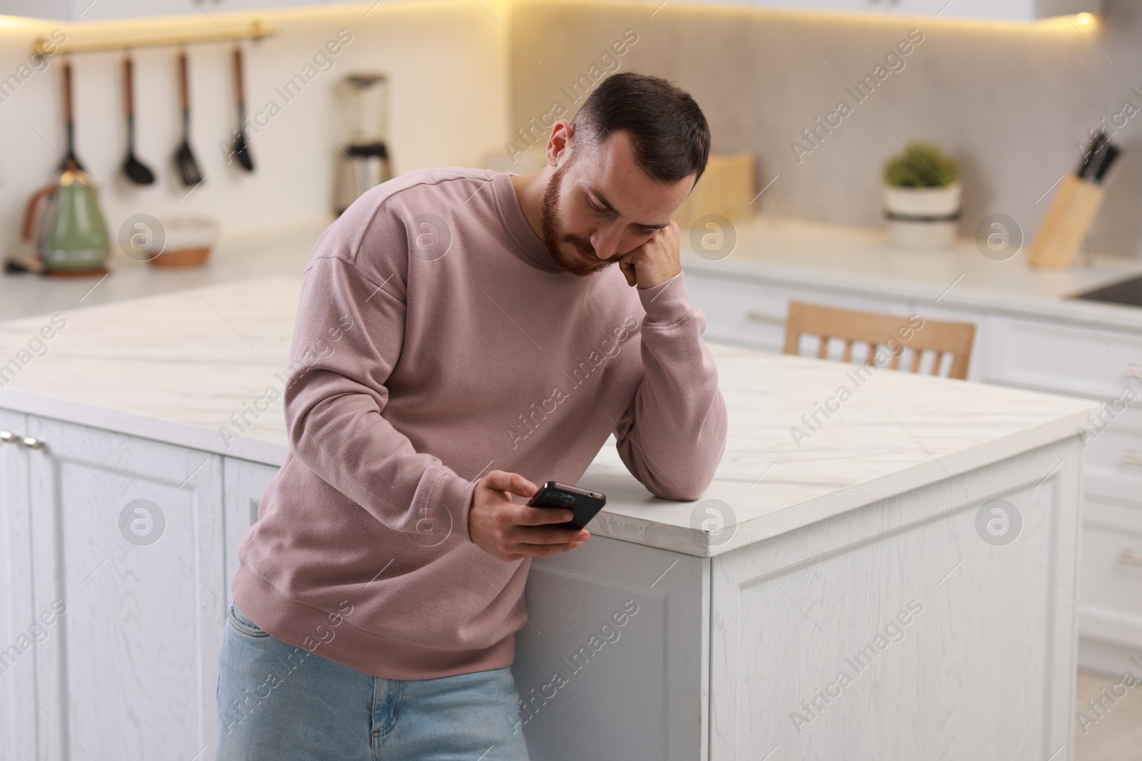
[[[228,141],[238,123],[231,43],[188,48],[191,141],[207,179],[185,197],[172,163],[182,140],[171,48],[135,52],[136,155],[158,175],[139,187],[122,178],[127,127],[122,112],[122,64],[119,52],[72,56],[77,154],[105,200],[104,213],[115,235],[135,213],[160,220],[172,214],[206,214],[227,232],[249,230],[329,214],[333,157],[340,140],[340,114],[332,86],[351,71],[389,75],[389,148],[394,169],[404,172],[434,165],[481,165],[489,151],[501,148],[507,132],[508,49],[498,18],[499,2],[354,3],[320,10],[187,16],[131,24],[69,24],[75,42],[99,35],[169,33],[187,29],[225,30],[262,18],[279,35],[243,42],[248,115],[271,99],[281,113],[252,136],[252,175],[227,165],[219,141]],[[496,17],[492,16],[496,14]],[[0,17],[0,79],[16,72],[32,40],[55,25]],[[338,30],[352,42],[287,103],[274,88],[311,62]],[[0,103],[0,253],[26,254],[18,243],[19,222],[29,195],[53,181],[64,153],[61,106],[61,59],[49,59],[14,95]],[[252,121],[252,119],[251,119]],[[39,135],[37,135],[39,132]],[[42,138],[40,137],[42,136]],[[50,144],[50,145],[49,145]],[[57,153],[57,151],[59,153]],[[180,201],[182,200],[182,201]],[[330,217],[331,218],[331,217]]]

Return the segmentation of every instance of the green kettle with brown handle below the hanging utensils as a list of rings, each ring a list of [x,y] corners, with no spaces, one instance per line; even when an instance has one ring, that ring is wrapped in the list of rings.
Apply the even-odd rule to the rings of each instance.
[[[40,201],[42,213],[37,217]],[[55,185],[32,194],[24,212],[23,238],[32,240],[35,253],[54,275],[91,275],[105,272],[111,254],[107,226],[99,211],[99,196],[87,172],[70,165]]]

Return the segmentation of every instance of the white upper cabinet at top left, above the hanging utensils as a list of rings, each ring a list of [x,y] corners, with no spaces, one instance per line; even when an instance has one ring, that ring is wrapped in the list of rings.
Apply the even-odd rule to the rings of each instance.
[[[0,0],[0,14],[70,22],[333,5],[335,0]]]

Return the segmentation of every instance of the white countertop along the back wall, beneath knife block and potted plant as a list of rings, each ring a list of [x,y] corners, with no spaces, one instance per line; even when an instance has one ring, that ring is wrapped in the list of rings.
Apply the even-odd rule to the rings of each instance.
[[[1027,265],[1031,242],[1006,261],[984,257],[960,240],[941,251],[902,251],[885,229],[758,218],[735,225],[738,243],[710,261],[683,244],[683,268],[725,277],[815,283],[849,293],[890,297],[916,305],[1031,315],[1119,330],[1142,331],[1142,308],[1081,301],[1073,297],[1134,275],[1142,259],[1079,257],[1068,269]],[[683,235],[683,240],[687,236]]]

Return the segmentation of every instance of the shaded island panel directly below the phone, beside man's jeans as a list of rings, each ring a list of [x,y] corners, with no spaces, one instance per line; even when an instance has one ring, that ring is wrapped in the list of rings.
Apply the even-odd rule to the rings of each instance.
[[[605,536],[533,559],[512,666],[531,758],[705,760],[708,592],[708,559]]]

